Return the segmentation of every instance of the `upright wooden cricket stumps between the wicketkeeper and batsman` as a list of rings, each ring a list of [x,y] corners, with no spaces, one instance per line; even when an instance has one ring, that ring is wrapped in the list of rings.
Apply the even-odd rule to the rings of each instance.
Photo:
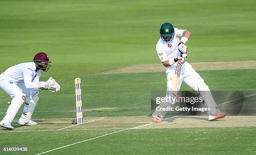
[[[76,92],[76,106],[77,106],[77,124],[83,123],[82,113],[82,93],[81,93],[81,79],[75,79],[75,92]]]

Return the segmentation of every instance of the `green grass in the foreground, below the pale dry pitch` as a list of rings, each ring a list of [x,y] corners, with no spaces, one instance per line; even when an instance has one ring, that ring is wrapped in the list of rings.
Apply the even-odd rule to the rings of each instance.
[[[29,153],[36,154],[115,131],[118,130],[34,132],[33,141],[22,139],[20,143],[33,146],[29,148]],[[5,145],[11,145],[17,142],[9,140],[8,136],[27,135],[27,132],[8,133],[2,140],[7,141]],[[85,151],[89,154],[254,154],[254,142],[255,127],[138,129],[118,132],[48,154],[79,154]]]

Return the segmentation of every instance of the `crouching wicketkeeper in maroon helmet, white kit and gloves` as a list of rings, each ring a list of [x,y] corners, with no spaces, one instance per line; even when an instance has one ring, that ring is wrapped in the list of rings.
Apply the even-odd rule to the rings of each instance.
[[[0,122],[1,127],[13,130],[11,123],[21,104],[26,100],[23,112],[18,120],[20,125],[37,125],[37,122],[31,120],[33,111],[38,102],[38,92],[40,90],[49,90],[56,92],[60,90],[59,84],[52,78],[46,82],[39,82],[41,70],[49,70],[49,57],[44,52],[39,52],[34,56],[33,62],[21,63],[5,70],[0,75],[0,88],[3,89],[12,98],[8,102],[9,107]]]

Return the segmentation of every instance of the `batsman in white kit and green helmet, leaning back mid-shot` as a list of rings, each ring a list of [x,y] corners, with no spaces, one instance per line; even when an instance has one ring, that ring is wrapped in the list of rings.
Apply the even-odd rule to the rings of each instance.
[[[179,74],[178,90],[184,81],[185,84],[194,89],[197,94],[203,98],[205,107],[210,108],[208,111],[208,120],[212,121],[226,116],[225,112],[220,112],[215,100],[212,97],[209,87],[200,75],[186,62],[187,60],[187,46],[185,43],[190,38],[191,33],[187,30],[174,28],[171,23],[163,23],[160,28],[160,39],[156,43],[156,52],[160,61],[166,67],[167,91],[166,95],[170,95],[173,91],[173,79],[176,71],[176,66],[182,64],[181,73]],[[179,40],[179,37],[181,39]],[[164,107],[167,105],[161,103]],[[160,104],[160,105],[161,105]],[[152,116],[154,122],[161,122],[167,111],[155,111]]]

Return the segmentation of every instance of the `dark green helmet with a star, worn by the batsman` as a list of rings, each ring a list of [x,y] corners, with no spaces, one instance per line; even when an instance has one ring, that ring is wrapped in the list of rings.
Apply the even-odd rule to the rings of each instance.
[[[161,25],[160,36],[161,36],[161,39],[166,43],[169,43],[173,40],[174,28],[171,23],[163,23]]]

